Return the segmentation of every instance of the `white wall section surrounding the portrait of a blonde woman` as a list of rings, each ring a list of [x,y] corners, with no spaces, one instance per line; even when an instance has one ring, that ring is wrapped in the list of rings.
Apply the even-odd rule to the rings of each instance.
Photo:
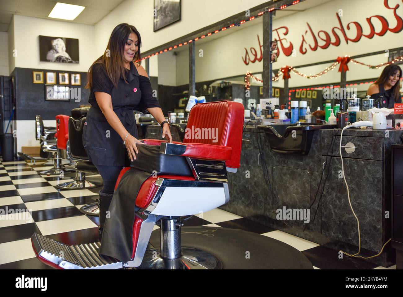
[[[14,48],[17,50],[17,56],[14,58],[14,67],[88,71],[89,66],[100,56],[95,50],[93,25],[38,19],[21,15],[14,15],[13,19]],[[72,64],[39,61],[39,35],[77,38],[79,40],[80,63]],[[14,69],[12,66],[13,65],[10,64],[10,72]]]

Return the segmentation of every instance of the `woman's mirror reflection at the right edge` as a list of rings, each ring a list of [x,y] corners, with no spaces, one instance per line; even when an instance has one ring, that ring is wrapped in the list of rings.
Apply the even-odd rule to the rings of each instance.
[[[376,82],[368,88],[367,95],[371,95],[375,102],[377,99],[380,100],[381,108],[393,108],[395,103],[401,103],[399,90],[401,77],[402,69],[399,66],[393,64],[386,66]]]

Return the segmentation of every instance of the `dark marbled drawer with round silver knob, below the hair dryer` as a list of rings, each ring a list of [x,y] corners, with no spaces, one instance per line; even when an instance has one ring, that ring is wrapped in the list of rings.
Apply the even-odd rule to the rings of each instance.
[[[322,135],[322,155],[326,156],[329,146],[332,142],[330,135]],[[334,139],[333,156],[339,156],[340,136]],[[349,145],[347,145],[349,144]],[[384,138],[381,137],[359,137],[359,136],[343,136],[342,146],[351,146],[355,148],[341,148],[343,158],[367,159],[367,160],[383,160],[383,144]],[[348,152],[347,152],[347,151]],[[332,155],[331,149],[329,156]]]

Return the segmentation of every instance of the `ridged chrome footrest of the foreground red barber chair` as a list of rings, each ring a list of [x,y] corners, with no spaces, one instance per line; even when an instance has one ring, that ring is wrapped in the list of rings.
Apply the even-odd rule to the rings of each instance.
[[[36,257],[58,269],[118,269],[123,263],[98,253],[101,244],[65,245],[34,233],[31,243]]]

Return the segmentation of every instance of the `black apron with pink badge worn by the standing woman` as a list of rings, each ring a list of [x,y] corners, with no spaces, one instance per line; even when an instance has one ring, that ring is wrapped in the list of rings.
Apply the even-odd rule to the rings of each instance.
[[[123,126],[132,136],[138,138],[134,109],[140,102],[139,73],[133,63],[126,73],[126,79],[119,79],[117,88],[111,91],[112,108]],[[83,144],[88,159],[94,165],[129,166],[127,149],[122,138],[111,127],[100,108],[92,106],[83,128]]]

